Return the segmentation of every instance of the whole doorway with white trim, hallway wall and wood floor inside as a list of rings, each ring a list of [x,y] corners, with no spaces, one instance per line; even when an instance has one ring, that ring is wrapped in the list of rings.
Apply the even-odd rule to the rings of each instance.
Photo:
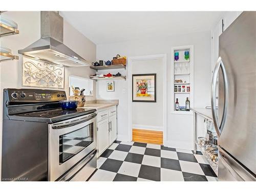
[[[128,122],[131,141],[164,144],[167,140],[166,54],[128,58]],[[156,102],[133,102],[133,74],[156,74]]]

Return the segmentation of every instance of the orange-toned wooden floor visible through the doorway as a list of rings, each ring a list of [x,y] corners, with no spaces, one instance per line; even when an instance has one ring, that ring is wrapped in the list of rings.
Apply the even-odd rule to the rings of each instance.
[[[152,144],[163,144],[163,132],[133,129],[133,141]]]

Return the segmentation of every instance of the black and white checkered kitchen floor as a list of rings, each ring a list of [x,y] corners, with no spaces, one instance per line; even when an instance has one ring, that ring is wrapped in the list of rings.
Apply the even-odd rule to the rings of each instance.
[[[115,141],[89,181],[217,181],[201,154],[163,145]]]

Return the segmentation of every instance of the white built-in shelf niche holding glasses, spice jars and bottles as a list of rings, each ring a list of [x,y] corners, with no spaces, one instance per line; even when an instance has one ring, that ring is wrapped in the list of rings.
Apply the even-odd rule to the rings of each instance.
[[[189,59],[184,58],[184,52],[189,52]],[[175,52],[179,52],[179,59],[175,60]],[[190,107],[194,107],[194,46],[181,46],[172,48],[172,113],[190,115],[191,111],[176,111],[175,103],[178,98],[179,106],[185,106],[186,98],[190,101]],[[182,82],[175,82],[182,80]],[[177,91],[175,92],[175,86]],[[179,86],[181,90],[179,91]],[[185,92],[182,91],[182,86],[185,86]],[[187,90],[189,87],[189,91]]]

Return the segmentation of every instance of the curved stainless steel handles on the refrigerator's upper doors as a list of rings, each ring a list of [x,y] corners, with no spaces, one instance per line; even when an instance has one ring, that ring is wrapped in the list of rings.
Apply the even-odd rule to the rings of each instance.
[[[216,86],[217,86],[217,77],[219,70],[223,72],[223,80],[224,80],[224,108],[222,114],[221,124],[219,125],[217,119],[217,111],[216,111]],[[227,73],[225,66],[221,60],[221,57],[218,58],[216,62],[216,66],[214,69],[214,74],[212,75],[212,82],[211,82],[211,113],[212,113],[212,120],[214,121],[214,126],[217,135],[220,137],[221,132],[223,130],[224,124],[227,118],[227,104],[228,104],[228,81],[227,81]]]

